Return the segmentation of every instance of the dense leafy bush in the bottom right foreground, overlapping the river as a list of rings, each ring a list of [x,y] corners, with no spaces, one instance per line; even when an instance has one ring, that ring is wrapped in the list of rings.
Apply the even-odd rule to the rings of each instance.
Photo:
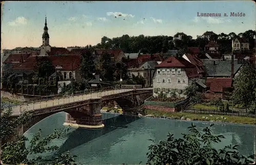
[[[149,164],[248,164],[252,163],[254,155],[245,156],[238,152],[238,145],[225,146],[217,151],[212,147],[215,143],[221,142],[223,135],[212,134],[211,124],[202,130],[201,133],[191,123],[188,127],[189,134],[183,138],[175,139],[174,134],[168,134],[167,140],[160,141],[148,147],[147,153]],[[153,141],[153,140],[152,140]],[[154,142],[154,141],[153,141]]]

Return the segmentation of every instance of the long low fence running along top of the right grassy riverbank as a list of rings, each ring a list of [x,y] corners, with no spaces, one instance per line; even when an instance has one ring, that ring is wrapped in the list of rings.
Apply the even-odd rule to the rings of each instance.
[[[247,117],[255,117],[255,113],[249,112],[228,112],[228,111],[217,111],[212,109],[197,109],[197,108],[189,108],[185,110],[185,112],[189,113],[197,113],[197,114],[216,114],[216,115],[234,115],[234,116],[247,116]]]

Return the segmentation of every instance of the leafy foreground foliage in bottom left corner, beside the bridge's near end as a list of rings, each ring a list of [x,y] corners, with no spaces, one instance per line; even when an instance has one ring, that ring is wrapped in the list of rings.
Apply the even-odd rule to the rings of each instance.
[[[31,113],[28,111],[22,112],[17,119],[10,119],[12,109],[10,107],[4,108],[1,106],[1,160],[6,164],[35,164],[42,157],[37,156],[33,159],[28,159],[29,154],[40,154],[47,151],[56,151],[56,145],[49,146],[52,140],[62,138],[69,131],[70,128],[54,130],[54,133],[41,137],[41,130],[39,130],[30,142],[30,146],[25,147],[25,142],[28,140],[24,135],[15,134],[15,128],[20,125],[26,125],[31,120]],[[13,137],[10,142],[10,138]],[[7,142],[9,141],[9,142]],[[75,164],[74,157],[69,153],[60,154],[53,160],[52,164]]]

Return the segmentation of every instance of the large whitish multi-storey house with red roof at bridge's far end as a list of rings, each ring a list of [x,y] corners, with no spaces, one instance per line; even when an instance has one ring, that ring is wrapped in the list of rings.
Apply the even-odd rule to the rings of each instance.
[[[193,80],[199,79],[197,68],[181,56],[172,56],[155,66],[153,77],[153,96],[157,97],[162,91],[167,97],[170,93],[184,96],[185,88]]]

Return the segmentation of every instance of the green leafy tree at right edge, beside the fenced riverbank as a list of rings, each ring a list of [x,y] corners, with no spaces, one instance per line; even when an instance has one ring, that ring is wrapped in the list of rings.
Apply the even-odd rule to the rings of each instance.
[[[247,111],[250,104],[256,100],[256,68],[250,63],[244,63],[240,73],[234,78],[232,100],[245,106]]]

